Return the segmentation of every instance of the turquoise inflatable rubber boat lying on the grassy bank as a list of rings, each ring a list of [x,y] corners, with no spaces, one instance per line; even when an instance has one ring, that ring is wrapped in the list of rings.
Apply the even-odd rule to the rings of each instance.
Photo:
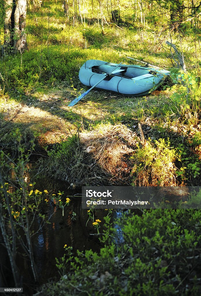
[[[157,67],[117,65],[97,59],[88,60],[80,68],[79,79],[81,83],[92,87],[108,73],[96,88],[128,96],[144,96],[157,89],[170,75],[169,71]],[[115,67],[117,69],[112,73]]]

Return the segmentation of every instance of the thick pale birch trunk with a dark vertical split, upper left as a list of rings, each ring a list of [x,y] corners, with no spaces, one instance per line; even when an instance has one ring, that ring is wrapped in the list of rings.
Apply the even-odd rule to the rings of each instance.
[[[22,53],[26,48],[26,11],[26,0],[5,1],[4,46],[9,51]]]

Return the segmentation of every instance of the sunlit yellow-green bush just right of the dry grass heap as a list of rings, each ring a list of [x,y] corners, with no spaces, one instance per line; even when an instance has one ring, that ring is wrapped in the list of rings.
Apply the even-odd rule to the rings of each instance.
[[[146,146],[138,148],[131,157],[134,163],[132,169],[135,186],[170,186],[176,181],[176,150],[170,147],[170,142],[159,139],[154,143],[147,141]]]

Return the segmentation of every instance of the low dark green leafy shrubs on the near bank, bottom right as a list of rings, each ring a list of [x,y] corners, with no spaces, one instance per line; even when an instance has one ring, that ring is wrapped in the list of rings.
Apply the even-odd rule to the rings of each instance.
[[[124,213],[118,221],[123,244],[65,256],[65,274],[39,295],[199,295],[200,219],[195,210]]]

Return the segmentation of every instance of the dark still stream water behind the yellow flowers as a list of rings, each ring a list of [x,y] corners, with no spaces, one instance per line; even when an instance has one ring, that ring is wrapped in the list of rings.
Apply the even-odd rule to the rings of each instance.
[[[31,178],[33,180],[33,178]],[[30,181],[30,176],[27,176],[27,182]],[[49,192],[57,193],[59,190],[64,191],[62,198],[65,201],[66,197],[70,197],[69,206],[65,206],[64,215],[62,215],[62,209],[56,208],[54,203],[49,201],[45,203],[41,208],[42,214],[45,214],[46,218],[50,218],[49,223],[41,227],[41,218],[36,217],[32,229],[36,234],[32,237],[34,259],[39,274],[40,286],[46,283],[49,279],[58,279],[58,269],[56,267],[55,257],[60,258],[66,252],[64,245],[73,247],[73,253],[76,254],[76,250],[89,250],[98,252],[102,246],[97,234],[97,230],[92,226],[92,221],[88,220],[87,210],[82,209],[81,206],[81,190],[71,190],[65,183],[56,183],[43,178],[36,180],[34,189],[43,191],[47,189]],[[114,212],[112,220],[118,218],[122,213]],[[105,210],[96,210],[95,219],[100,219],[102,232],[102,225],[104,224],[103,217],[107,215]],[[116,243],[122,243],[122,231],[119,226],[115,224],[117,228]],[[0,240],[2,238],[0,236]],[[8,285],[11,282],[12,274],[9,267],[9,258],[7,251],[1,245],[0,246],[1,266],[4,268],[4,279],[2,281],[7,282]],[[27,291],[26,295],[32,295],[34,290],[30,288],[33,284],[33,274],[30,268],[30,262],[22,256],[20,244],[18,245],[17,254],[17,266],[22,275],[24,283],[24,289]],[[7,267],[6,267],[7,266]]]

